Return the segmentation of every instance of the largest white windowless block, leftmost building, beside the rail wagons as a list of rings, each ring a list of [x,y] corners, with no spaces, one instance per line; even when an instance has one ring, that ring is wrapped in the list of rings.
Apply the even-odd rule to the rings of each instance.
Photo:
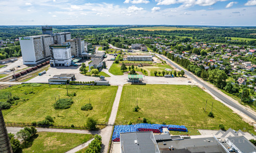
[[[53,42],[51,35],[19,37],[23,64],[37,64],[50,59],[49,45],[53,44]]]

